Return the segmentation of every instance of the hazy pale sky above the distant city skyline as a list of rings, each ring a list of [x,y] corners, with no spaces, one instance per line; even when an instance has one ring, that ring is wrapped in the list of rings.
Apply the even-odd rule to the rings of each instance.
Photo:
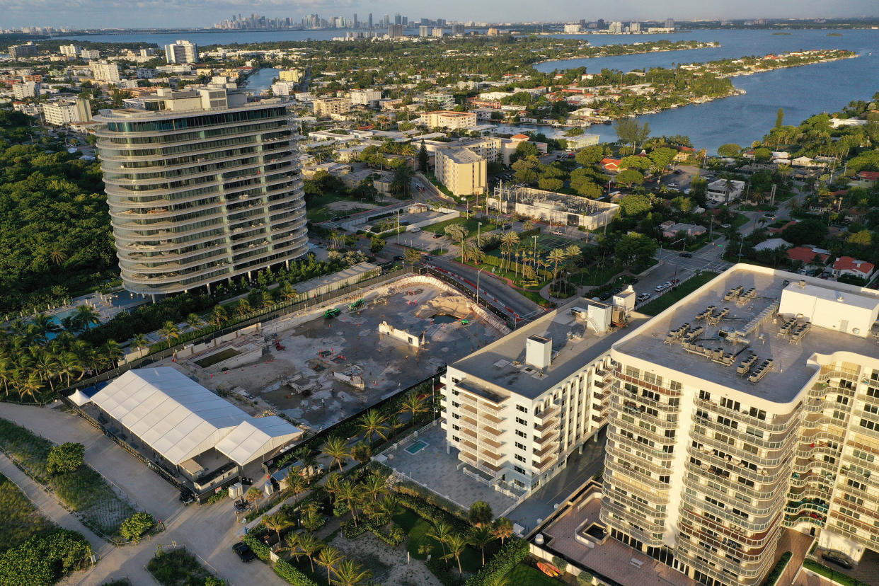
[[[410,18],[447,20],[558,22],[580,18],[646,20],[676,18],[846,18],[879,16],[876,0],[428,0],[372,2],[370,0],[0,0],[0,28],[54,25],[75,28],[142,28],[209,26],[232,14],[257,12],[298,21],[306,14],[322,18],[374,18],[396,12]]]

